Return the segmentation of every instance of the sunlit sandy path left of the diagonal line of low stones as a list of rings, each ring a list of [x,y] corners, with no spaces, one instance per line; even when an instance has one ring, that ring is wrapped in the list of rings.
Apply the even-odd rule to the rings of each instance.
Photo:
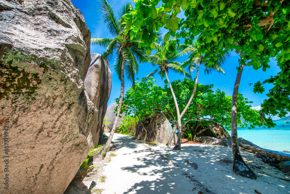
[[[107,178],[102,194],[197,193],[202,189],[198,183],[182,176],[181,169],[131,136],[114,134],[113,142],[117,147],[113,151],[116,156],[104,167]],[[199,190],[191,191],[194,187]]]

